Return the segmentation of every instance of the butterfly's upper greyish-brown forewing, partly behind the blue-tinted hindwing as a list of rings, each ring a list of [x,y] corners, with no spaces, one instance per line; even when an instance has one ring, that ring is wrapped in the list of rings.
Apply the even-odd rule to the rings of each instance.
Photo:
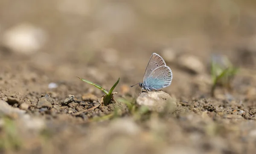
[[[160,67],[160,66],[166,66],[165,61],[159,54],[153,53],[148,61],[148,65],[146,67],[144,77],[143,77],[143,82],[149,76],[149,74],[151,74],[151,72],[154,69],[156,69],[157,67]]]

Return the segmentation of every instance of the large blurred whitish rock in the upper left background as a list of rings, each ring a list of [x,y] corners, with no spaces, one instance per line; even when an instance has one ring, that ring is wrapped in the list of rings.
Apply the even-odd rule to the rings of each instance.
[[[22,23],[4,31],[2,37],[2,46],[23,54],[38,51],[45,42],[45,31],[28,23]]]

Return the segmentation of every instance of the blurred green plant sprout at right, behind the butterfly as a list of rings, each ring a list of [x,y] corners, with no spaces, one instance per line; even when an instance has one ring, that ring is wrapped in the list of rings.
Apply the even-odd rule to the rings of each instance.
[[[215,96],[215,89],[218,85],[231,90],[231,81],[237,72],[238,68],[234,67],[227,57],[214,55],[211,61],[212,97]]]

